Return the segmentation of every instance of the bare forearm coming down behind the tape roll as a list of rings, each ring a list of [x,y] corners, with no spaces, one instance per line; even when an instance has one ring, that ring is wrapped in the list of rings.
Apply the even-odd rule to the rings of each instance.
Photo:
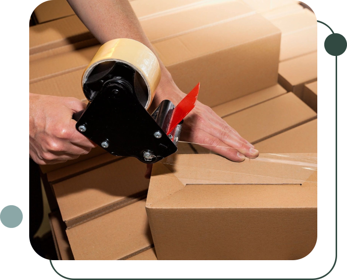
[[[100,43],[117,38],[133,39],[149,47],[157,56],[128,0],[68,0],[68,2]],[[177,92],[178,88],[171,74],[159,57],[158,60],[162,77],[157,94],[160,97],[173,89]],[[182,97],[173,95],[171,99],[177,103]]]

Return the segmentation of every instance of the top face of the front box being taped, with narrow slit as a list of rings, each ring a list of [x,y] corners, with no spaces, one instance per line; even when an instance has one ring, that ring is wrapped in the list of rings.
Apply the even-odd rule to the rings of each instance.
[[[317,207],[317,154],[261,154],[241,164],[213,154],[169,160],[153,167],[147,208]]]

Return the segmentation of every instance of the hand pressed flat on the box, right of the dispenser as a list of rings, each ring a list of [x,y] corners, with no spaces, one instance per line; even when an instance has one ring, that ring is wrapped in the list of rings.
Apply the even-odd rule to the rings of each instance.
[[[176,106],[186,95],[173,81],[161,82],[155,95],[154,106],[164,99]],[[246,158],[255,159],[259,151],[244,139],[213,110],[198,102],[183,123],[181,141],[201,144],[202,147],[220,154],[233,162],[243,162]]]

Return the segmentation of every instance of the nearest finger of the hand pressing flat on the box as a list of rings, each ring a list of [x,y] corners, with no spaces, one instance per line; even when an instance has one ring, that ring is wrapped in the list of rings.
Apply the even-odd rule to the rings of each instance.
[[[198,143],[208,145],[202,145],[202,147],[207,148],[223,157],[226,157],[228,160],[231,160],[233,162],[241,163],[246,160],[246,156],[243,153],[240,153],[235,148],[229,147],[217,137],[214,137],[203,130],[200,130],[198,134]]]

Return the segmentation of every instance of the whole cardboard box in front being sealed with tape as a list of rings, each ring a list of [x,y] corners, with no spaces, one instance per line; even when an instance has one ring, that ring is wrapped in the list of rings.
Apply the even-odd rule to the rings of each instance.
[[[180,155],[175,166],[155,164],[146,209],[158,260],[309,255],[317,242],[317,154],[282,156],[240,164]]]

